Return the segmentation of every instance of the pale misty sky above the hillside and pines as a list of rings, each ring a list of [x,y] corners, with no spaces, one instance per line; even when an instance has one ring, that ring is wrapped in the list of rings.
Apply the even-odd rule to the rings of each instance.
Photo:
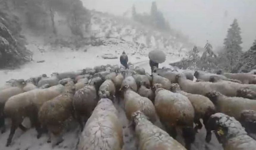
[[[150,12],[152,0],[82,0],[88,9],[122,15],[135,4],[137,12]],[[181,30],[190,40],[213,48],[222,46],[234,18],[241,27],[243,50],[256,39],[256,0],[156,0],[172,28]],[[226,12],[226,13],[225,13]]]

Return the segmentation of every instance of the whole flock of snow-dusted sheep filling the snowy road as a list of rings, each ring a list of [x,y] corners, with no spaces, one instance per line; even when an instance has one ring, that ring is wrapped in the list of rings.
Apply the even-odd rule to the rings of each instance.
[[[190,149],[203,127],[200,119],[206,142],[214,131],[225,150],[253,150],[256,141],[247,132],[256,133],[254,74],[193,74],[163,67],[150,75],[128,64],[128,69],[102,65],[26,81],[12,79],[0,89],[1,132],[5,118],[10,118],[10,146],[17,128],[27,130],[22,121],[28,117],[37,138],[48,131],[47,142],[54,146],[63,141],[65,123],[73,118],[82,131],[78,150],[121,150],[123,125],[114,103],[123,101],[140,150]],[[154,125],[158,120],[165,130]],[[185,146],[175,140],[176,128],[182,130]]]

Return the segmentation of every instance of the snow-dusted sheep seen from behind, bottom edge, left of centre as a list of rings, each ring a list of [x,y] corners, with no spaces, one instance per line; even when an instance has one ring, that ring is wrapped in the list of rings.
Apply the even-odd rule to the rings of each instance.
[[[101,99],[86,122],[78,150],[121,150],[123,144],[118,111],[110,99]]]

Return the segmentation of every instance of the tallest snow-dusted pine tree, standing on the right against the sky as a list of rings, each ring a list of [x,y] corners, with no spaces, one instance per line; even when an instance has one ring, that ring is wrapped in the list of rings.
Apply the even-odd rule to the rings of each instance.
[[[231,28],[227,31],[227,37],[224,39],[225,54],[229,60],[230,69],[237,65],[239,58],[242,54],[242,38],[241,29],[238,26],[237,19],[234,19],[233,23],[230,25]]]

